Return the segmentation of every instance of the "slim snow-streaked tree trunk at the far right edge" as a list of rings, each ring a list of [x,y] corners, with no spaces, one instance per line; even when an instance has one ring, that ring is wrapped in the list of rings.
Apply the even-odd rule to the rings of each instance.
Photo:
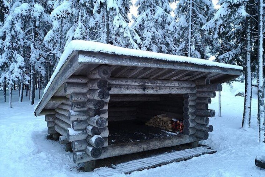
[[[264,110],[264,88],[263,88],[263,0],[259,0],[258,19],[258,124],[259,143],[265,143],[265,110]]]

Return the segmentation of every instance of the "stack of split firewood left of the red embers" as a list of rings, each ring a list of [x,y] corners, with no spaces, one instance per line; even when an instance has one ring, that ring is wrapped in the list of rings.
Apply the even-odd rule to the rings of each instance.
[[[173,131],[172,118],[167,117],[166,114],[160,114],[152,117],[148,122],[145,123],[145,125]]]

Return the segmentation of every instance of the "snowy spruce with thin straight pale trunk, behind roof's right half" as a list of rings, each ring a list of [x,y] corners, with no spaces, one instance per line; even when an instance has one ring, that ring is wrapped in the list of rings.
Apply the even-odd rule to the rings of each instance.
[[[175,9],[176,54],[209,59],[211,37],[202,30],[215,12],[211,0],[180,0]]]

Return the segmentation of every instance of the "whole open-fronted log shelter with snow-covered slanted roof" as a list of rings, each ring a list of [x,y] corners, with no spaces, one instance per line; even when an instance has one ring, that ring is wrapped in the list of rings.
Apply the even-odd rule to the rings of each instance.
[[[48,134],[73,150],[75,163],[180,144],[197,144],[213,130],[208,109],[221,83],[242,67],[183,56],[72,41],[65,49],[35,116]],[[183,133],[145,125],[167,114],[183,120]]]

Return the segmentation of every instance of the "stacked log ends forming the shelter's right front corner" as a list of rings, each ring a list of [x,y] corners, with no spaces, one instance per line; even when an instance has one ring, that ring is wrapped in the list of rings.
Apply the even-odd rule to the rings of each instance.
[[[183,133],[195,135],[197,138],[207,139],[208,132],[213,131],[213,126],[208,125],[209,117],[215,117],[215,111],[208,109],[211,98],[216,96],[215,91],[222,91],[221,84],[211,84],[209,78],[195,81],[196,93],[183,95]]]

